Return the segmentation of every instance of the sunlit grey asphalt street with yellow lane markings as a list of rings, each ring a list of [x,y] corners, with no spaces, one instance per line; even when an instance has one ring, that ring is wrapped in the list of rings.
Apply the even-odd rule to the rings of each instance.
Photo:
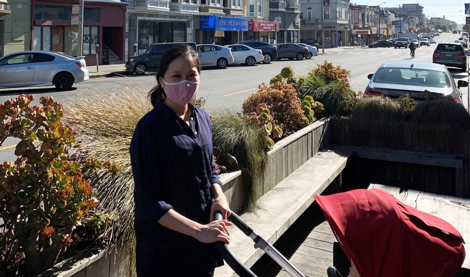
[[[458,34],[443,33],[435,39],[449,42],[459,38]],[[432,54],[436,45],[421,46],[415,51],[416,62],[432,62]],[[320,49],[321,53],[321,49]],[[325,49],[325,54],[320,54],[310,60],[302,61],[274,61],[270,64],[256,64],[254,66],[235,65],[226,69],[206,68],[201,72],[201,84],[199,86],[198,97],[206,99],[205,108],[207,110],[217,108],[232,108],[240,110],[243,100],[251,93],[256,92],[261,83],[269,83],[269,80],[280,73],[285,66],[292,66],[297,75],[304,75],[317,63],[324,61],[332,62],[334,65],[351,71],[351,85],[355,91],[364,91],[368,84],[367,75],[387,61],[409,61],[409,50],[405,48],[358,48],[358,47],[337,47]],[[469,74],[460,69],[449,68],[455,83],[463,79],[468,81]],[[16,97],[19,94],[34,94],[36,99],[40,96],[53,96],[56,101],[68,103],[77,95],[94,97],[93,93],[100,94],[102,91],[125,93],[127,88],[132,86],[140,87],[143,91],[156,84],[155,74],[136,76],[124,75],[119,77],[103,77],[90,79],[82,83],[75,84],[70,91],[61,92],[53,87],[0,89],[0,103]],[[468,89],[462,89],[462,100],[468,109]],[[37,104],[37,100],[33,102]],[[10,138],[0,146],[0,161],[14,161],[14,146],[16,139]],[[9,147],[9,148],[8,148]]]

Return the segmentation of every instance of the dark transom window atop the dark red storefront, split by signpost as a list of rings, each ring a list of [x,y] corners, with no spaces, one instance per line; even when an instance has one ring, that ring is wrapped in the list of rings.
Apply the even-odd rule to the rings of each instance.
[[[70,21],[72,7],[34,5],[34,20]],[[99,8],[83,8],[83,21],[100,21]]]

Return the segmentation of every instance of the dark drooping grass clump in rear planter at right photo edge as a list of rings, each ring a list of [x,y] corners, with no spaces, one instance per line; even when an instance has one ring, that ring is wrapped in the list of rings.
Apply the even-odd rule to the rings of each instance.
[[[411,119],[412,143],[421,141],[423,150],[447,154],[466,152],[470,115],[450,99],[426,101],[415,108]]]

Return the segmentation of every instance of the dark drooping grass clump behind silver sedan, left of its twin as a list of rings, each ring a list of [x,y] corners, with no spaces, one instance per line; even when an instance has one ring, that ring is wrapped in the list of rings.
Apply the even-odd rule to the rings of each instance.
[[[408,131],[400,105],[388,97],[358,101],[349,119],[353,142],[371,147],[406,148]]]

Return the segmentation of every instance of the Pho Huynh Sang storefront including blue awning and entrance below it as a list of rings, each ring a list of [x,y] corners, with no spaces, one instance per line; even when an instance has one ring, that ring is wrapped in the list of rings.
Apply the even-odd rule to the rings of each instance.
[[[229,45],[243,39],[248,18],[202,15],[199,18],[199,44]]]

